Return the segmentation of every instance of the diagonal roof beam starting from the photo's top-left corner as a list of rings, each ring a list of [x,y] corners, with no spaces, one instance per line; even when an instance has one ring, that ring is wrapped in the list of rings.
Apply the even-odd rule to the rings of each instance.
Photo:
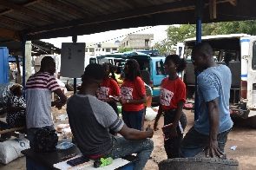
[[[5,8],[8,8],[10,10],[15,10],[17,12],[21,12],[25,15],[35,17],[36,19],[41,19],[41,20],[49,22],[49,23],[60,23],[59,20],[56,20],[53,17],[46,16],[46,15],[41,14],[38,11],[35,11],[35,10],[30,10],[26,7],[17,5],[16,3],[10,3],[10,2],[5,1],[5,0],[0,0],[0,5],[5,7]]]

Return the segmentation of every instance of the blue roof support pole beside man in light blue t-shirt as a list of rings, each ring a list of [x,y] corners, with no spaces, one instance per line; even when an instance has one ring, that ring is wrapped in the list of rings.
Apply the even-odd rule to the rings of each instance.
[[[204,0],[196,0],[195,1],[195,11],[194,16],[196,19],[196,43],[201,42],[201,19],[203,17],[203,10],[204,10],[205,2]],[[197,91],[197,75],[200,72],[195,70],[195,101],[194,101],[194,121],[198,120],[199,118],[199,96]]]

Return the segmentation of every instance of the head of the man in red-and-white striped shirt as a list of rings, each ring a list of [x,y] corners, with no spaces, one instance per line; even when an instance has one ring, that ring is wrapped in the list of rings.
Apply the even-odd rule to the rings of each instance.
[[[54,75],[56,72],[56,62],[51,56],[43,57],[40,71],[48,72],[50,75]]]

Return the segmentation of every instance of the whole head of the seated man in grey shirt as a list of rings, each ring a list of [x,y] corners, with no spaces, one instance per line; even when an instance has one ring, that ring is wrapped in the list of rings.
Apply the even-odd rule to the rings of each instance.
[[[104,76],[104,69],[101,64],[90,63],[82,75],[82,84],[89,84],[98,88]]]

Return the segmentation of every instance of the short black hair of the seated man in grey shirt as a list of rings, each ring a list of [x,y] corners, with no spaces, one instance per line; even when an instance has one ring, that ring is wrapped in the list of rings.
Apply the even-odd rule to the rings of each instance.
[[[101,64],[90,63],[85,69],[83,73],[84,80],[102,80],[104,75],[104,69]]]

